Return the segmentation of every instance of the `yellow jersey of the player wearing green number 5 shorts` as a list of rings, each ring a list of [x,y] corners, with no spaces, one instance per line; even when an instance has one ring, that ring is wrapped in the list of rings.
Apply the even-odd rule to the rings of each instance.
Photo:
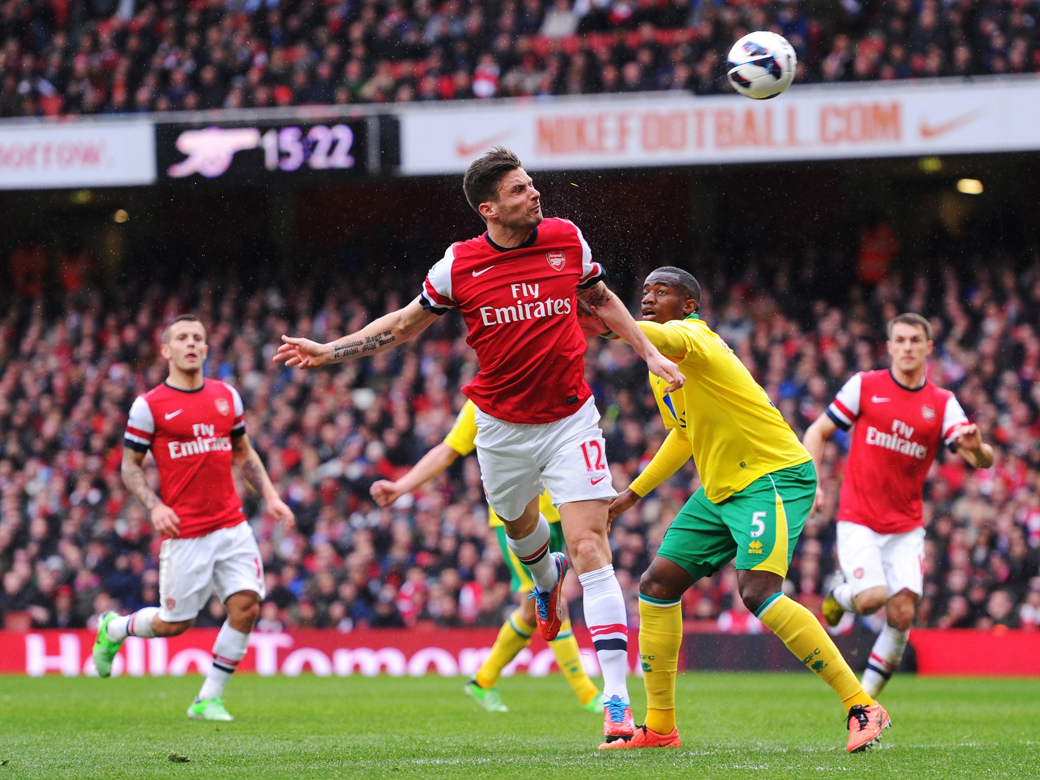
[[[696,315],[640,329],[686,378],[675,393],[650,374],[650,387],[669,434],[660,463],[651,463],[631,488],[646,495],[691,457],[705,497],[729,498],[755,479],[811,460],[795,432],[726,342]],[[658,457],[654,457],[658,461]]]

